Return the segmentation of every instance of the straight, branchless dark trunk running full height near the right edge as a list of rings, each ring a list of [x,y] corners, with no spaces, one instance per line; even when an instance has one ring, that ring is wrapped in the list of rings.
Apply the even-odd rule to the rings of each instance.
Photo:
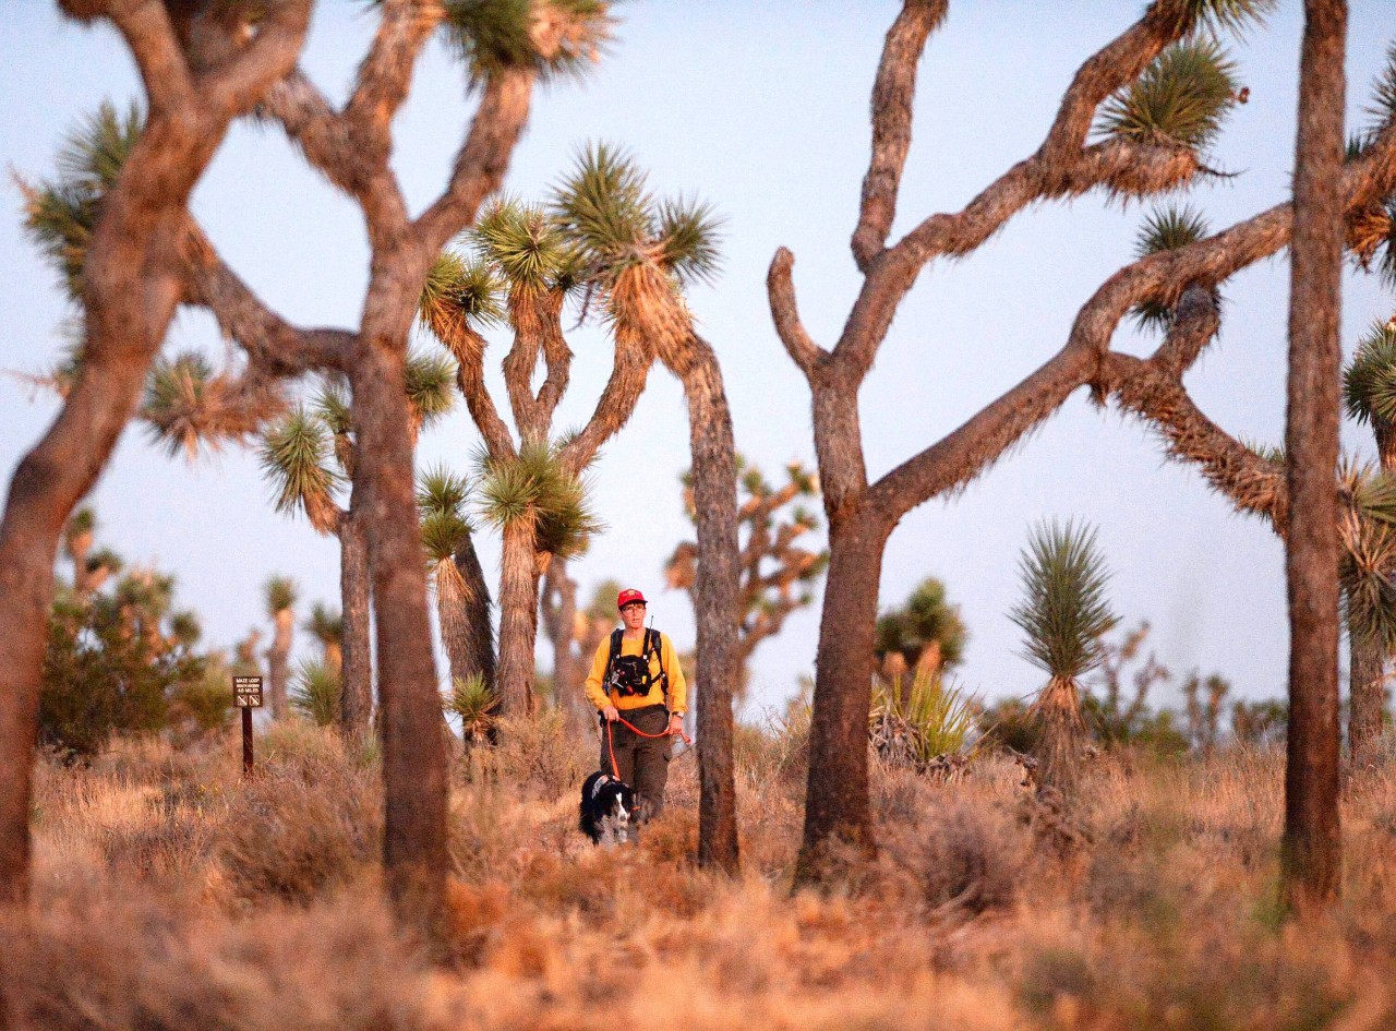
[[[1342,873],[1337,697],[1339,310],[1347,4],[1305,0],[1290,247],[1290,724],[1284,895],[1326,902]]]

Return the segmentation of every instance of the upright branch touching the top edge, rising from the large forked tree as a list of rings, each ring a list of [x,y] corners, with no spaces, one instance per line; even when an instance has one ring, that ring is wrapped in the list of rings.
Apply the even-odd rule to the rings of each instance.
[[[853,260],[863,272],[882,251],[896,217],[896,193],[912,145],[916,66],[926,39],[945,18],[948,7],[949,0],[906,0],[882,45],[872,87],[872,156],[863,177],[863,204],[852,244]]]

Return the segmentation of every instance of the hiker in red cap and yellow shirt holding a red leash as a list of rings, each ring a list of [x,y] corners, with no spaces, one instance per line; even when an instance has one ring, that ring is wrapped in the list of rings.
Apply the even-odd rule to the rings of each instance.
[[[586,676],[586,699],[602,722],[600,768],[635,789],[637,817],[664,809],[669,754],[683,733],[688,685],[669,634],[645,627],[645,595],[616,595],[623,627],[603,638]],[[649,735],[649,736],[646,736]]]

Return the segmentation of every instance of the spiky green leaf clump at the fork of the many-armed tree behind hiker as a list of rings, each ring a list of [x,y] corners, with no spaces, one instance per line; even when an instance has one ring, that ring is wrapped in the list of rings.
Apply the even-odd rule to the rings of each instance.
[[[532,524],[536,549],[575,559],[604,524],[591,510],[585,481],[568,475],[556,444],[525,444],[517,458],[477,455],[482,514],[496,527]]]

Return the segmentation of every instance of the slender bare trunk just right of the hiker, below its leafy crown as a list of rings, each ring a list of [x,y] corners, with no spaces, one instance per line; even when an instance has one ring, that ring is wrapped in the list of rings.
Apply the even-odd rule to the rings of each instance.
[[[737,692],[737,446],[722,369],[708,341],[690,335],[659,358],[684,384],[692,450],[698,532],[698,862],[736,873],[737,789],[732,756],[732,700]]]

